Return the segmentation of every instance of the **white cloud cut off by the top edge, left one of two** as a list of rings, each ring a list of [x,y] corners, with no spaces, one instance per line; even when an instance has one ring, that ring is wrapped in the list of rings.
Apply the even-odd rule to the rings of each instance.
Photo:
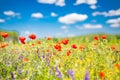
[[[57,6],[65,6],[65,0],[38,0],[42,4],[55,4]]]

